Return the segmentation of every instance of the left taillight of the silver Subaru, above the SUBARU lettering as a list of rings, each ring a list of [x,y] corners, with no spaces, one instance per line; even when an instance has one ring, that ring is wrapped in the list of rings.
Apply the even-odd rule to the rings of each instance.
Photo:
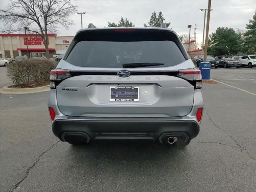
[[[50,75],[50,88],[55,89],[57,84],[69,77],[71,77],[70,70],[52,70]]]

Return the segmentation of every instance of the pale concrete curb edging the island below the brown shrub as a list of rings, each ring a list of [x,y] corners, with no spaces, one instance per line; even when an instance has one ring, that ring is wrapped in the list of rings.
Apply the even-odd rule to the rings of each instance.
[[[10,86],[10,85],[8,85]],[[4,86],[0,89],[0,93],[2,94],[27,94],[27,93],[39,93],[44,91],[50,91],[50,85],[42,86],[42,87],[34,87],[34,88],[8,88],[8,86]]]

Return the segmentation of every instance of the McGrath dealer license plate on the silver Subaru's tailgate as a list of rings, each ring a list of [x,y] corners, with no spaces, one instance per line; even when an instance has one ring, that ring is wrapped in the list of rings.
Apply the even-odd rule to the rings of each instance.
[[[119,87],[111,86],[109,88],[109,100],[120,102],[136,102],[139,101],[139,87]]]

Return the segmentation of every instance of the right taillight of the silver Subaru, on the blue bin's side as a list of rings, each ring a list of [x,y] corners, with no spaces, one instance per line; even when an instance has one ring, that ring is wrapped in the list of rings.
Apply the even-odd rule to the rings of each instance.
[[[191,82],[195,89],[202,88],[202,75],[198,69],[180,70],[177,76]]]

